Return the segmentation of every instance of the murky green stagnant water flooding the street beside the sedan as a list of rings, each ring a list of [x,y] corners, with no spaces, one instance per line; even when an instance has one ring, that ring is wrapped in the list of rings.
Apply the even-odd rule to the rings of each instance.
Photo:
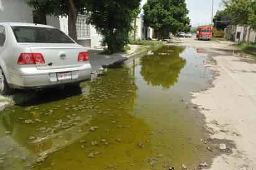
[[[16,94],[0,114],[0,169],[197,167],[209,151],[188,102],[213,78],[205,62],[194,48],[163,47],[81,89]]]

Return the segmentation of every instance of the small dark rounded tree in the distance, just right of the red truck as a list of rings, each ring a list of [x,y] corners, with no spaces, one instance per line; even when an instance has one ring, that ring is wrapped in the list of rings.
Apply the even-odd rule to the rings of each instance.
[[[216,27],[217,30],[224,30],[231,24],[232,20],[233,17],[227,10],[217,11],[213,19],[214,27]]]

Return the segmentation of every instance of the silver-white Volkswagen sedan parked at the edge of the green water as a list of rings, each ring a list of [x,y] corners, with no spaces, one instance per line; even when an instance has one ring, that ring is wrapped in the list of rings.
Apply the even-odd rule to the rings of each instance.
[[[55,27],[0,22],[0,92],[79,84],[90,78],[89,53]]]

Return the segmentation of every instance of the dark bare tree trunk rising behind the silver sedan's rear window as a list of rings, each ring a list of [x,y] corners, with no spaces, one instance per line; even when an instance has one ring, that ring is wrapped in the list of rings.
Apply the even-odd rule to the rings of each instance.
[[[68,34],[73,40],[77,41],[76,34],[76,19],[77,19],[77,9],[74,4],[74,0],[68,0],[70,3],[70,9],[68,11]]]

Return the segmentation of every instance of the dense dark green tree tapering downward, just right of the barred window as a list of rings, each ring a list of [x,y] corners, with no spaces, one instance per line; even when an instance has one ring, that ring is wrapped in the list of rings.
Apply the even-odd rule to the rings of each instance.
[[[114,53],[129,43],[132,21],[139,14],[140,0],[90,0],[89,23],[103,35],[107,53]]]

